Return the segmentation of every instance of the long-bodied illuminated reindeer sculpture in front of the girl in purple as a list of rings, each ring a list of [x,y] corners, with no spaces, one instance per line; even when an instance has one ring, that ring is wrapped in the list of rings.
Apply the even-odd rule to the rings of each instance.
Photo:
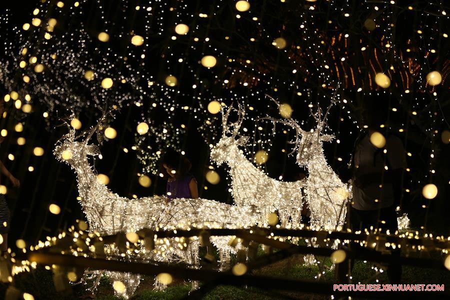
[[[89,164],[88,155],[99,155],[98,146],[88,144],[92,134],[99,130],[105,114],[95,127],[87,131],[87,136],[81,134],[75,137],[75,130],[69,129],[56,144],[54,154],[59,160],[69,164],[75,171],[78,181],[78,192],[82,209],[89,222],[90,231],[100,234],[117,232],[136,232],[141,228],[153,230],[197,228],[242,228],[255,224],[254,211],[249,206],[231,206],[206,199],[172,199],[151,196],[138,199],[121,197],[111,192],[106,185],[98,181],[93,166]],[[98,132],[97,132],[98,134]],[[80,137],[86,136],[79,140]],[[153,240],[153,238],[151,238]],[[236,251],[236,247],[228,245],[230,237],[211,237],[212,243],[221,252]],[[106,245],[107,253],[120,256],[127,253],[125,259],[139,258],[146,261],[181,260],[193,267],[198,267],[198,238],[154,239],[154,249],[148,250],[142,240],[140,250],[135,252],[119,251],[117,245]],[[152,247],[153,247],[152,246]],[[121,255],[123,256],[123,255]],[[221,261],[223,264],[229,261]],[[130,296],[139,283],[138,275],[129,273],[109,272],[113,280],[124,281],[126,290],[122,295]],[[192,283],[196,287],[196,282]]]

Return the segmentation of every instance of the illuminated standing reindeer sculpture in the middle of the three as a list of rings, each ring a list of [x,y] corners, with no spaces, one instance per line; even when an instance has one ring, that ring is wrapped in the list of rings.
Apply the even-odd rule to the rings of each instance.
[[[210,157],[217,165],[223,162],[228,164],[234,203],[238,206],[256,206],[260,226],[266,225],[269,214],[276,210],[283,227],[290,225],[292,228],[298,228],[304,180],[278,181],[255,167],[239,149],[239,146],[248,141],[248,137],[236,138],[245,112],[239,106],[237,121],[228,124],[231,109],[232,105],[225,113],[222,109],[222,137],[211,149]]]

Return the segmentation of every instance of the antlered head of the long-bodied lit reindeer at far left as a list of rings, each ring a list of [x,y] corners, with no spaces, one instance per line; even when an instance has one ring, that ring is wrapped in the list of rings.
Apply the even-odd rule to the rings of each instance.
[[[79,165],[81,161],[87,159],[87,155],[99,155],[100,150],[97,145],[88,144],[92,134],[98,130],[101,122],[104,120],[104,114],[97,125],[90,130],[84,131],[75,136],[75,129],[71,128],[66,120],[63,120],[68,128],[68,133],[63,135],[57,142],[53,154],[58,160],[63,160],[72,167]],[[73,117],[73,115],[72,115]]]

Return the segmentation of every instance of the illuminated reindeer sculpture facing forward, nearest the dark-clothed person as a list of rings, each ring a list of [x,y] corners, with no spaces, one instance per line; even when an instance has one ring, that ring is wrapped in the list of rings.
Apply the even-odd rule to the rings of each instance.
[[[271,98],[278,106],[275,99]],[[321,109],[312,113],[317,121],[315,129],[305,131],[291,117],[286,120],[267,119],[280,122],[295,129],[294,149],[296,160],[300,166],[308,170],[305,193],[311,210],[311,225],[320,229],[336,230],[343,225],[347,199],[351,198],[351,188],[343,183],[326,162],[322,142],[330,141],[334,136],[322,134],[326,125],[326,117],[334,101],[328,106],[323,118]]]

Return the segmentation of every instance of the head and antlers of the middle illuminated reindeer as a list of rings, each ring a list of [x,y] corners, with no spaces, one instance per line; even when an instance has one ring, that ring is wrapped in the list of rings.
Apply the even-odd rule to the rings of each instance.
[[[218,165],[222,164],[223,161],[227,160],[230,156],[235,155],[235,152],[233,151],[238,145],[244,145],[248,141],[248,136],[240,136],[236,139],[245,115],[245,111],[240,109],[240,105],[238,105],[237,109],[237,121],[228,124],[228,116],[232,108],[232,105],[229,106],[226,113],[223,113],[222,109],[222,137],[211,149],[211,160]]]

